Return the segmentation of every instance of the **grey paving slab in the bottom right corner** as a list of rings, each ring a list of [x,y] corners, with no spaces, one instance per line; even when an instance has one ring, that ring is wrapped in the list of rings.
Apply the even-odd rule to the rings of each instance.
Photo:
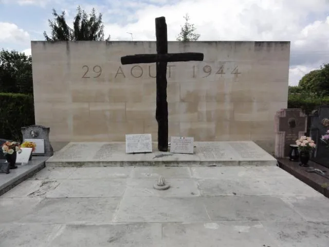
[[[329,246],[329,221],[276,221],[262,224],[281,247]]]

